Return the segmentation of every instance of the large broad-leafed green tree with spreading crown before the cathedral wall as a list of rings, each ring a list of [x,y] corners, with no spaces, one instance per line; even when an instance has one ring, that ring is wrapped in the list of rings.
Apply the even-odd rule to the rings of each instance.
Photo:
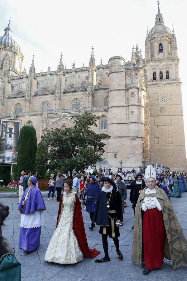
[[[65,128],[63,131],[58,128],[53,131],[44,130],[40,143],[40,147],[47,146],[50,149],[47,153],[49,168],[66,174],[70,171],[70,177],[72,170],[83,170],[101,161],[105,145],[102,140],[109,138],[107,134],[97,134],[92,130],[97,126],[99,116],[85,113],[73,116],[72,119],[73,128]],[[38,153],[40,151],[42,149]]]

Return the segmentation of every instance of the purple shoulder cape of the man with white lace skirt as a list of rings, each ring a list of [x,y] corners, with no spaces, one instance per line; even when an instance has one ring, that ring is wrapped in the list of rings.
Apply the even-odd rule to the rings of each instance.
[[[22,209],[22,201],[24,200],[24,197],[28,190],[29,190],[29,187],[23,193],[22,199],[18,206],[18,210],[19,211],[22,210],[22,214],[31,214],[38,210],[46,210],[46,206],[45,206],[43,197],[41,195],[39,188],[36,185],[31,188],[29,195],[28,195],[28,200],[26,200],[25,205],[23,206],[23,209]]]

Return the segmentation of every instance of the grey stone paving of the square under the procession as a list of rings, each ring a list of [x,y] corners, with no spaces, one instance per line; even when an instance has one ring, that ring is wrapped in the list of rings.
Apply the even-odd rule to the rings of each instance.
[[[127,198],[129,198],[130,190],[127,190]],[[0,197],[1,193],[0,193]],[[138,265],[131,263],[132,252],[132,236],[131,229],[133,225],[133,210],[132,205],[127,201],[125,208],[124,224],[120,227],[120,250],[123,254],[123,260],[117,258],[113,240],[108,238],[109,256],[111,261],[103,264],[96,264],[94,259],[84,259],[81,263],[73,265],[61,265],[47,263],[44,260],[47,246],[54,233],[58,203],[47,201],[44,197],[47,210],[45,214],[45,225],[41,229],[41,243],[39,248],[33,253],[26,255],[18,248],[19,229],[21,214],[17,210],[17,198],[1,198],[0,202],[8,205],[10,214],[5,220],[5,225],[2,226],[2,234],[6,237],[12,247],[15,255],[22,265],[22,281],[44,281],[44,280],[187,280],[187,266],[182,266],[178,269],[173,269],[169,260],[164,260],[161,269],[154,269],[148,276],[144,276],[142,271],[144,265],[140,268]],[[187,237],[187,193],[182,193],[181,198],[171,198],[175,213],[180,221],[180,225]],[[98,233],[99,227],[96,226],[93,231],[89,230],[89,214],[83,208],[84,226],[90,248],[95,247],[101,251],[98,258],[103,257],[102,237]],[[13,281],[13,280],[12,280]]]

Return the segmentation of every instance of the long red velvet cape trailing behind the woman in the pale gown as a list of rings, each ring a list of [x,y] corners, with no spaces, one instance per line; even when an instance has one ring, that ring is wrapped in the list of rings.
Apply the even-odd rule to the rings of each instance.
[[[63,198],[63,194],[60,196],[56,228],[58,226],[58,220],[61,212],[62,198]],[[95,258],[98,254],[100,254],[100,251],[97,251],[95,248],[89,249],[88,247],[88,242],[86,239],[86,233],[84,229],[83,216],[80,209],[80,201],[76,194],[75,194],[75,203],[74,203],[74,212],[73,212],[73,231],[77,238],[79,248],[85,258]]]

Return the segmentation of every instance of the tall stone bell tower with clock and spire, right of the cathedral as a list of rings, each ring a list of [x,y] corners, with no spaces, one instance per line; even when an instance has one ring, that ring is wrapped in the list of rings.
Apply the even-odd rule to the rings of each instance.
[[[155,26],[146,36],[151,159],[170,169],[186,168],[181,81],[176,37],[164,25],[158,3]]]

